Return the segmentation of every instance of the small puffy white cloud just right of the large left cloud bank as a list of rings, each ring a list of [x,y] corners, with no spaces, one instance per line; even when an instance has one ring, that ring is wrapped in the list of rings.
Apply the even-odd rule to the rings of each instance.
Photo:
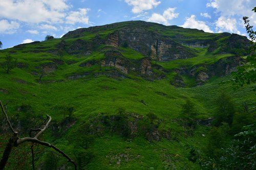
[[[89,24],[89,17],[87,16],[89,8],[79,8],[79,11],[72,11],[69,16],[66,17],[66,23],[75,24],[86,23]]]

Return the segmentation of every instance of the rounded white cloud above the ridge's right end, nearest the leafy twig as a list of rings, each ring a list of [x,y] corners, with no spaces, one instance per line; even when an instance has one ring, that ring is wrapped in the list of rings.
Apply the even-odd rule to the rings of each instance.
[[[228,18],[228,17],[221,16],[218,18],[215,24],[216,24],[216,30],[218,32],[228,31],[231,33],[240,34],[240,32],[238,32],[238,29],[237,29],[237,20],[235,18]]]

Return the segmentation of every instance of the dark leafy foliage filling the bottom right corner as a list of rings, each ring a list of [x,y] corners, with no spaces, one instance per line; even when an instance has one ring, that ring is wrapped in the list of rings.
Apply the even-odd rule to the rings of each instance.
[[[220,138],[219,128],[213,128],[212,131],[216,131],[214,136],[216,138],[215,144],[220,144],[223,137]],[[223,145],[218,146],[218,152],[212,152],[215,158],[209,158],[202,162],[202,167],[204,169],[241,169],[241,170],[252,170],[256,168],[256,130],[254,125],[244,126],[243,131],[234,135],[236,139],[232,140],[229,147],[223,148]],[[217,133],[218,132],[218,133]],[[216,145],[217,146],[217,145]],[[209,150],[212,150],[211,146]]]

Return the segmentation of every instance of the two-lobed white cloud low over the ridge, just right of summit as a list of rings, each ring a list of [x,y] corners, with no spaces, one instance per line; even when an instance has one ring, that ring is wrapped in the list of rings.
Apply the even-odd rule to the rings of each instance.
[[[163,14],[153,13],[147,21],[163,23],[164,25],[169,25],[168,20],[172,20],[179,16],[179,13],[175,13],[176,8],[168,8],[163,12]]]

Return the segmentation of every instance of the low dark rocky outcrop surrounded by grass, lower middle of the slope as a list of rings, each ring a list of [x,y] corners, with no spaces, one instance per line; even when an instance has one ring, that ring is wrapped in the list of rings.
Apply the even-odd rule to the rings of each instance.
[[[158,128],[159,125],[160,120],[157,117],[152,122],[148,117],[136,113],[122,112],[115,115],[99,113],[92,117],[83,128],[86,129],[87,134],[95,135],[108,131],[129,139],[143,136],[148,141],[160,141],[164,138],[163,134],[171,135],[172,132],[162,132]],[[172,139],[172,137],[168,139]]]

